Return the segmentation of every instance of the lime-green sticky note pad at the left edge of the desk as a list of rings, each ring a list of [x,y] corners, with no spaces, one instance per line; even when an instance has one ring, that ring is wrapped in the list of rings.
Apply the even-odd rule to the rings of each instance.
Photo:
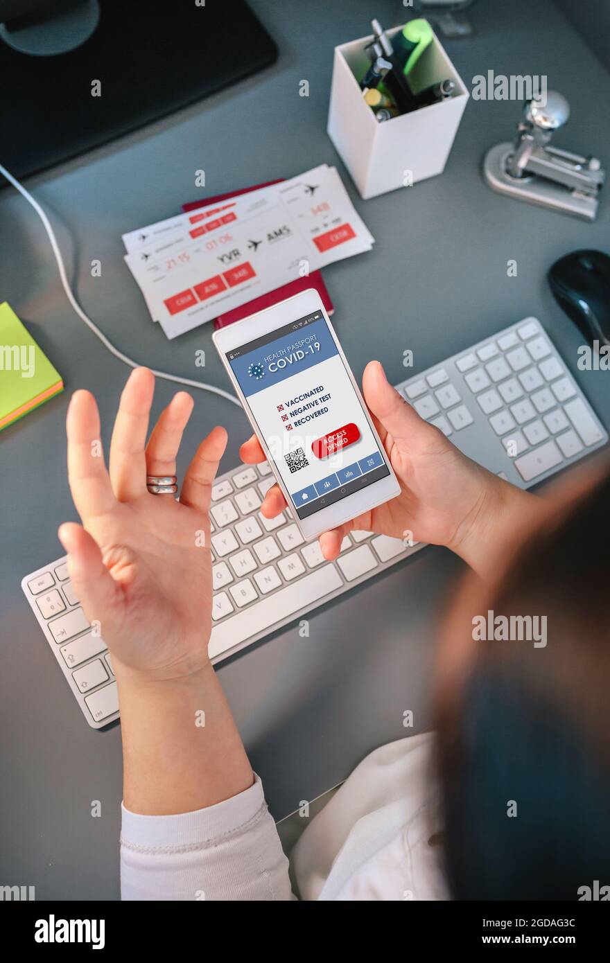
[[[0,304],[0,430],[64,390],[46,354],[10,304]]]

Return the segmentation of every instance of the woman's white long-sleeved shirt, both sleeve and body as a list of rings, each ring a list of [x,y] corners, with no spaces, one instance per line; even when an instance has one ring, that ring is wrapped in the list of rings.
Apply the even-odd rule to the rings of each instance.
[[[122,899],[447,899],[432,735],[364,759],[288,860],[256,776],[250,789],[178,816],[122,807]]]

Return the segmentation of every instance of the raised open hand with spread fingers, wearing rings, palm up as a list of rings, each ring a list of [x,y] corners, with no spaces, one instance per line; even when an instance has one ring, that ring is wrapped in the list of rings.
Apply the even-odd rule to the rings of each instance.
[[[79,391],[72,397],[66,418],[68,479],[83,524],[66,523],[59,534],[74,588],[113,659],[153,678],[173,678],[207,662],[212,607],[207,511],[226,433],[213,429],[201,442],[179,502],[150,494],[146,475],[175,474],[193,409],[190,396],[179,392],[146,444],[153,389],[146,369],[129,377],[109,471],[93,395]]]

